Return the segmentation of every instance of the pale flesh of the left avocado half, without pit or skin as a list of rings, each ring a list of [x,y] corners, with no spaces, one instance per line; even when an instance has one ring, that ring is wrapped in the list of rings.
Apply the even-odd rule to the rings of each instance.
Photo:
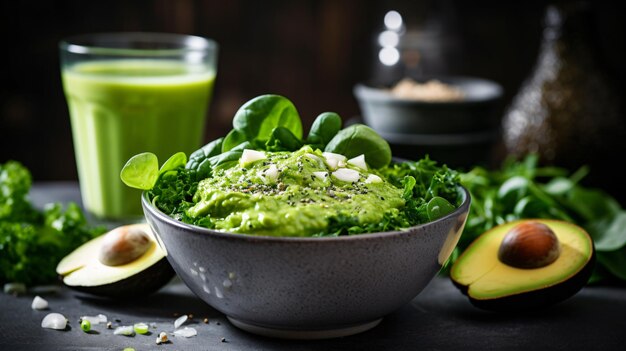
[[[101,235],[83,244],[59,262],[56,271],[63,277],[63,283],[69,287],[94,287],[90,292],[97,293],[97,287],[135,277],[159,261],[165,260],[165,254],[156,244],[150,227],[147,224],[136,224],[136,226],[141,226],[141,229],[152,239],[152,244],[142,256],[119,266],[102,264],[98,257],[105,235]],[[118,288],[123,289],[123,287]]]

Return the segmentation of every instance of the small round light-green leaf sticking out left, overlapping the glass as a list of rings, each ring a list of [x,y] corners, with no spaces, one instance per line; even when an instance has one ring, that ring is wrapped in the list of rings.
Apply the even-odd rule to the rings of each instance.
[[[120,178],[131,188],[150,190],[159,178],[159,160],[151,152],[135,155],[122,168]]]

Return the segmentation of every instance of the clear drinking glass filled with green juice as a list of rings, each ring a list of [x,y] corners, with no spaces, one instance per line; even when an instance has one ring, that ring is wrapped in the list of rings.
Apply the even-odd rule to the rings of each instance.
[[[85,34],[60,42],[85,209],[139,219],[141,192],[120,171],[141,152],[160,162],[201,146],[217,70],[215,41],[166,33]]]

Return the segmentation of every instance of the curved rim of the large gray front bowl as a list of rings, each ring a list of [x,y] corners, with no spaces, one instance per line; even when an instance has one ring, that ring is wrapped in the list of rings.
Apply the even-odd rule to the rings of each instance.
[[[251,235],[251,234],[243,234],[243,233],[232,233],[232,232],[223,232],[217,231],[205,227],[200,227],[193,224],[188,224],[181,222],[177,219],[170,217],[165,214],[161,210],[159,210],[152,201],[148,198],[148,191],[143,191],[141,194],[141,203],[145,211],[149,211],[152,216],[159,218],[161,221],[173,225],[179,229],[183,229],[185,233],[197,234],[197,235],[208,235],[214,236],[221,239],[228,240],[241,240],[241,241],[254,241],[254,242],[270,242],[270,243],[321,243],[321,242],[335,242],[335,241],[352,241],[352,240],[367,240],[367,239],[380,239],[383,237],[389,236],[402,236],[402,235],[410,235],[414,232],[414,229],[425,227],[427,225],[431,225],[437,222],[443,222],[451,217],[456,217],[464,212],[469,212],[470,204],[471,204],[471,196],[470,192],[463,187],[462,185],[458,185],[458,190],[461,191],[462,196],[464,197],[463,202],[457,207],[454,211],[448,213],[447,215],[438,218],[434,221],[418,224],[416,226],[404,228],[401,230],[394,230],[389,232],[375,232],[375,233],[362,233],[355,235],[343,235],[343,236],[325,236],[325,237],[291,237],[291,236],[270,236],[270,235]],[[144,213],[145,217],[148,217],[147,213]],[[146,218],[147,220],[147,218]]]

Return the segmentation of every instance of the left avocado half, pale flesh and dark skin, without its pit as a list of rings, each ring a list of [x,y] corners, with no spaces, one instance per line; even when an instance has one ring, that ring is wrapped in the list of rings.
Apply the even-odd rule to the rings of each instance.
[[[57,274],[71,289],[111,298],[133,298],[153,293],[167,284],[174,270],[147,224],[125,226],[147,234],[149,246],[136,259],[120,265],[105,265],[100,251],[105,233],[78,247],[57,265]],[[118,229],[118,228],[116,228]],[[115,229],[114,229],[115,230]]]

